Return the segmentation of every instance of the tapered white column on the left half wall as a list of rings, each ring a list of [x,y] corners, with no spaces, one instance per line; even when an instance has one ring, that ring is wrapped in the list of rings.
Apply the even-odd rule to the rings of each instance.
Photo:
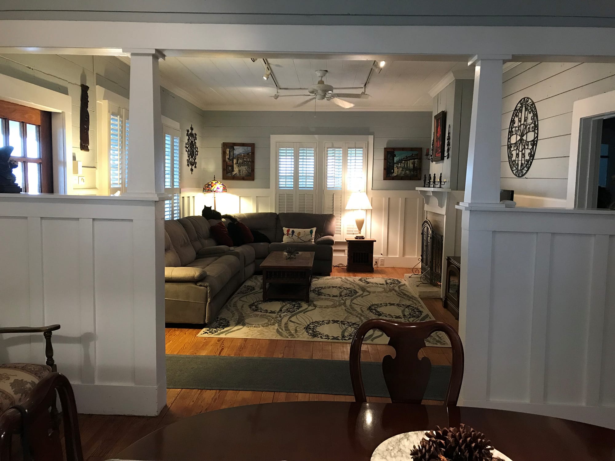
[[[129,195],[164,195],[164,146],[160,109],[159,50],[130,52]]]

